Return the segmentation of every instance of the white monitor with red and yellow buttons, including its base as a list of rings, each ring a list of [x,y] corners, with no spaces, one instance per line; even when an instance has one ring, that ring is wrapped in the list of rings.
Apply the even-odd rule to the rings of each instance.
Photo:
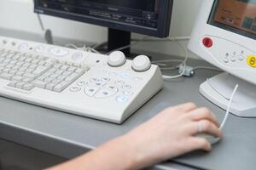
[[[203,0],[189,49],[225,72],[200,92],[223,109],[239,84],[230,112],[256,117],[256,1]]]

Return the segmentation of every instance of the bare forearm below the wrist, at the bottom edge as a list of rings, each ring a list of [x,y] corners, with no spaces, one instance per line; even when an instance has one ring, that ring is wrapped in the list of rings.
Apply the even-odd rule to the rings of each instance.
[[[83,156],[67,161],[59,166],[51,167],[50,170],[66,169],[94,169],[94,170],[129,170],[137,169],[136,154],[131,145],[121,137],[103,144],[96,150],[90,151]]]

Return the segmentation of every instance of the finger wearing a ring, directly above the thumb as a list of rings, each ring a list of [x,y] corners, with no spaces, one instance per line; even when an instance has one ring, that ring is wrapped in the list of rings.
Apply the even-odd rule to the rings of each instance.
[[[208,133],[216,137],[222,137],[223,133],[219,128],[208,120],[202,120],[200,122],[192,122],[189,125],[189,133],[192,135],[198,133]]]

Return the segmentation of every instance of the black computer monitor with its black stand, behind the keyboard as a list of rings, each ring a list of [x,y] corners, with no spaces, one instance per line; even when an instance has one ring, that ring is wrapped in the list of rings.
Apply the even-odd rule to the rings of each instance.
[[[131,43],[131,32],[168,37],[173,0],[34,0],[35,12],[108,27],[108,50]],[[125,53],[129,53],[126,49]]]

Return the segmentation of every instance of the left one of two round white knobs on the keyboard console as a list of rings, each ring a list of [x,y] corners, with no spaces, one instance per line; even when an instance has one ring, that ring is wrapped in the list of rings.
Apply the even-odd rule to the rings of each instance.
[[[126,61],[125,54],[121,51],[114,51],[108,55],[108,65],[118,67],[124,65]]]

